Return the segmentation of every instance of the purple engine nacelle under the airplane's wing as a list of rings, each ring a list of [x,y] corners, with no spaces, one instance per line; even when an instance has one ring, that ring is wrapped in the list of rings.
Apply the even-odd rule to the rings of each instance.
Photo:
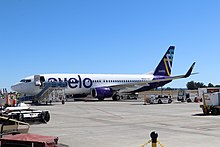
[[[99,87],[91,90],[91,95],[94,98],[98,98],[99,100],[103,100],[104,98],[112,97],[113,90],[108,87]]]

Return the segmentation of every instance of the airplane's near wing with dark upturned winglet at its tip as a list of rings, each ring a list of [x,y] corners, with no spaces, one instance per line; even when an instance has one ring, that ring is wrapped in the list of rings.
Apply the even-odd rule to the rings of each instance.
[[[190,75],[193,74],[197,74],[197,73],[192,73],[192,70],[195,66],[195,62],[191,65],[191,67],[189,68],[189,70],[186,72],[185,75],[178,75],[178,76],[159,76],[159,77],[155,77],[153,80],[150,81],[145,81],[145,82],[132,82],[132,83],[125,83],[125,84],[120,84],[120,85],[111,85],[108,86],[110,88],[112,88],[115,91],[134,91],[136,89],[139,89],[143,86],[149,86],[149,84],[151,83],[158,83],[158,82],[165,82],[165,81],[172,81],[172,80],[176,80],[176,79],[181,79],[181,78],[187,78]]]

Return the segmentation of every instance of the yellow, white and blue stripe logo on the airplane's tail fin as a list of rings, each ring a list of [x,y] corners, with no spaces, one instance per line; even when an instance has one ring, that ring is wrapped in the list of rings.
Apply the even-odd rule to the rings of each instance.
[[[169,52],[166,54],[166,56],[163,59],[168,76],[170,76],[170,72],[171,72],[171,68],[172,68],[173,54],[174,54],[174,49],[170,49]]]

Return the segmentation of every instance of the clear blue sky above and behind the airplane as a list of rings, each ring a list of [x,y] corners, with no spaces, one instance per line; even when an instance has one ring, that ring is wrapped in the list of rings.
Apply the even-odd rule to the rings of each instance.
[[[220,84],[218,0],[1,0],[0,88],[39,73],[146,73],[175,45],[172,75]]]

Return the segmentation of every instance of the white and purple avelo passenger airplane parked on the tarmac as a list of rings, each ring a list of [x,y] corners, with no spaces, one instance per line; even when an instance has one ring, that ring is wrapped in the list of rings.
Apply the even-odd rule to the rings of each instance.
[[[170,46],[153,73],[150,74],[40,74],[22,79],[11,86],[19,93],[36,96],[44,82],[66,82],[66,95],[88,96],[99,100],[112,97],[118,100],[123,93],[136,93],[164,86],[172,80],[191,75],[195,62],[185,75],[170,76],[174,46]]]

